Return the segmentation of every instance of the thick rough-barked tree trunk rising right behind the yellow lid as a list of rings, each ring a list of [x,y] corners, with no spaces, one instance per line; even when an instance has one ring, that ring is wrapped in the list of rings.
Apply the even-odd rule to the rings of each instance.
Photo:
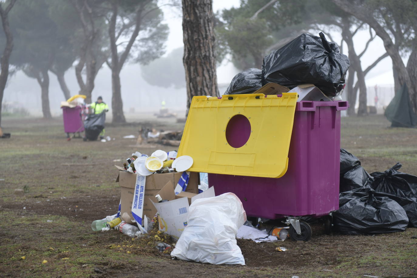
[[[187,112],[193,96],[219,95],[212,0],[182,0]]]

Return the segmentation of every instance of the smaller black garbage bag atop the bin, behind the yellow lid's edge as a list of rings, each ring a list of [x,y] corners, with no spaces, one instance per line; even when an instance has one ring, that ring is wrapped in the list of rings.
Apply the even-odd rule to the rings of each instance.
[[[250,68],[235,75],[225,95],[251,94],[262,87],[262,70]]]

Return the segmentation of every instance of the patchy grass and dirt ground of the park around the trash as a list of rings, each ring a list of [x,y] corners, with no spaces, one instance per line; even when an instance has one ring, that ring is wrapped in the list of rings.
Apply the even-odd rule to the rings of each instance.
[[[110,142],[67,141],[62,120],[3,118],[0,139],[0,276],[5,277],[417,277],[417,228],[383,235],[324,235],[314,224],[309,242],[239,240],[245,266],[171,260],[153,246],[90,224],[116,212],[120,188],[113,160],[134,151],[139,122],[106,126]],[[146,125],[181,129],[173,120],[146,117]],[[380,115],[342,118],[342,148],[369,172],[397,161],[417,175],[416,129],[388,128]],[[162,145],[140,148],[151,153]],[[4,179],[4,180],[2,180]],[[14,190],[24,188],[24,195]],[[120,246],[119,246],[120,245]],[[286,252],[276,252],[284,246]],[[46,263],[43,261],[46,260]]]

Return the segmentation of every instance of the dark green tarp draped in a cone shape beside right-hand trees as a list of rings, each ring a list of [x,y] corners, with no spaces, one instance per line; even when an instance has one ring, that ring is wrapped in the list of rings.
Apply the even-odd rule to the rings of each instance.
[[[417,115],[413,112],[405,84],[396,92],[384,115],[391,122],[391,127],[414,128],[417,125]]]

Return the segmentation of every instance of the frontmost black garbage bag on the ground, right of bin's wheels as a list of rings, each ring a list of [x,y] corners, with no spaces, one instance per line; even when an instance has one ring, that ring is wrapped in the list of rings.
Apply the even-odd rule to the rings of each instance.
[[[333,225],[344,234],[392,233],[405,230],[408,217],[396,201],[377,196],[368,186],[340,194]]]

